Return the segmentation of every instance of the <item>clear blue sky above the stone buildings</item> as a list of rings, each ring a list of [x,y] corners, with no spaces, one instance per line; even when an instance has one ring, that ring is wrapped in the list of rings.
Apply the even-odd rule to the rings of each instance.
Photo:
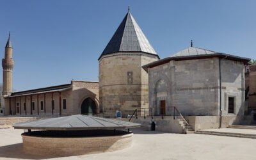
[[[98,81],[98,58],[127,6],[161,58],[189,47],[256,59],[256,1],[0,1],[0,52],[13,44],[13,88]],[[1,77],[2,79],[2,74]]]

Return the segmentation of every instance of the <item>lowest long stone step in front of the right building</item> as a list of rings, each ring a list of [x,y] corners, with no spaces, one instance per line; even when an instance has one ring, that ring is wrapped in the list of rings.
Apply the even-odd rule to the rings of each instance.
[[[239,138],[255,138],[256,134],[243,134],[243,133],[234,133],[234,132],[214,132],[214,131],[196,131],[196,134],[209,134],[215,136],[230,136],[230,137],[239,137]]]

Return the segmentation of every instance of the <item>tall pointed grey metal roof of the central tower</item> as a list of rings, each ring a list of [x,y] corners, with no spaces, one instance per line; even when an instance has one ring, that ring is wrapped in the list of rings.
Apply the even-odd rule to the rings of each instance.
[[[130,12],[125,15],[100,57],[115,52],[146,52],[157,55]]]

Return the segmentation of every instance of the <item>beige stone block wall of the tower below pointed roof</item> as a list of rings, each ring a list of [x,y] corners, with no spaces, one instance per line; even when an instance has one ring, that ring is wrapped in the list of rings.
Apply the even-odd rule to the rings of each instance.
[[[143,53],[116,53],[99,60],[100,106],[106,117],[131,115],[134,109],[148,108],[148,76],[141,68],[156,61]]]

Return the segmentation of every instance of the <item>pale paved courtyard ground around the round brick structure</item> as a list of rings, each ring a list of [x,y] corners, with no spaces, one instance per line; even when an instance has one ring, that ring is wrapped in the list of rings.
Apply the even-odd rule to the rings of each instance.
[[[22,152],[22,130],[0,129],[0,159],[256,159],[256,140],[134,129],[131,148],[73,157],[38,157]]]

